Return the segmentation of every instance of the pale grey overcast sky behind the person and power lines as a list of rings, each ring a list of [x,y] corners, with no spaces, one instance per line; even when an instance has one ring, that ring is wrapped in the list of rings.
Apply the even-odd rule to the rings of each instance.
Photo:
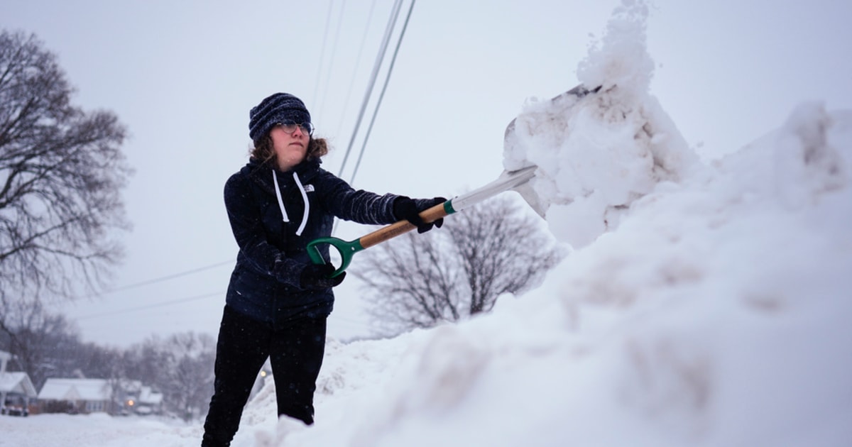
[[[78,106],[112,110],[130,129],[124,151],[136,172],[124,198],[134,230],[123,237],[118,290],[66,309],[85,340],[216,333],[237,250],[222,186],[247,160],[249,109],[278,91],[301,97],[316,135],[334,146],[324,167],[341,167],[394,2],[343,3],[0,3],[3,29],[33,32],[58,55]],[[354,186],[452,197],[492,181],[506,124],[527,98],[577,83],[619,3],[417,2]],[[780,126],[800,102],[852,108],[850,18],[847,0],[658,0],[648,20],[652,93],[705,160]],[[337,236],[369,230],[341,226]],[[337,289],[332,336],[367,331],[356,285]]]

